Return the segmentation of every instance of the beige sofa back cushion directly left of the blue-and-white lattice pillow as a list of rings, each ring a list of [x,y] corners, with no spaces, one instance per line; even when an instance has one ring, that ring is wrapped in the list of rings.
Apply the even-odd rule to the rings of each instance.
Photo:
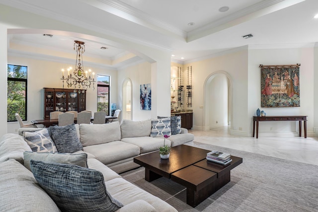
[[[151,120],[131,121],[122,120],[120,124],[121,138],[150,136]]]

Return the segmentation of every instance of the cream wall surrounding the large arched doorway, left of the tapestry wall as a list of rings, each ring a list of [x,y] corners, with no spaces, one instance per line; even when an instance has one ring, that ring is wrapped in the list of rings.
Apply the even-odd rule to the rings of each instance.
[[[226,55],[215,56],[203,61],[185,64],[192,66],[192,108],[193,129],[208,129],[209,118],[205,117],[204,86],[206,80],[213,73],[224,71],[232,81],[232,120],[231,134],[247,136],[249,132],[249,120],[247,120],[247,47],[242,47],[229,52]],[[205,105],[209,107],[209,105]]]

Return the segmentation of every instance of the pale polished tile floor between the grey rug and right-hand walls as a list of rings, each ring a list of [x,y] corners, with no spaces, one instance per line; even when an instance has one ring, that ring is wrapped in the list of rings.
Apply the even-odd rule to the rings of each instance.
[[[318,165],[317,137],[238,137],[230,135],[228,126],[189,133],[194,134],[197,142]]]

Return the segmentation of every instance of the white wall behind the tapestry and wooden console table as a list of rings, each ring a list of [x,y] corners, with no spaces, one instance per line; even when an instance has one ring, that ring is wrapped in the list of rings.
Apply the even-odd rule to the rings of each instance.
[[[260,68],[259,65],[300,66],[300,107],[261,108]],[[249,133],[252,132],[252,116],[256,109],[264,110],[266,115],[306,115],[308,116],[307,134],[314,136],[314,49],[263,49],[248,51],[248,116]],[[272,128],[272,130],[271,130]],[[261,122],[259,136],[291,134],[297,136],[298,122]],[[263,134],[263,135],[262,135]]]

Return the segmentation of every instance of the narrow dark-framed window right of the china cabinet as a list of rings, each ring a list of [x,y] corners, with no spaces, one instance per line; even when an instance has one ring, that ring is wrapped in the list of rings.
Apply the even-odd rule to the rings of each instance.
[[[97,111],[109,116],[109,76],[97,75]]]

